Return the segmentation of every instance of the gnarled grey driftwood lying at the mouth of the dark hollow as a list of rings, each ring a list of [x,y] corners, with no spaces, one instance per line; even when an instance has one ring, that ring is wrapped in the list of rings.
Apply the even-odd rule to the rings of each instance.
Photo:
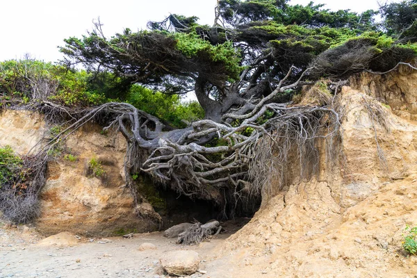
[[[197,245],[201,243],[204,238],[208,238],[208,236],[218,235],[221,229],[222,227],[218,221],[211,221],[206,224],[197,222],[193,224],[192,227],[189,227],[186,231],[179,234],[177,243]]]

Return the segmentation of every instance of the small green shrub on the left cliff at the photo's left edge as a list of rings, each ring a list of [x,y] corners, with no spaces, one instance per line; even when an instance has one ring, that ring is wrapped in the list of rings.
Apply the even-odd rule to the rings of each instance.
[[[6,145],[0,147],[0,188],[6,184],[14,184],[24,178],[23,160]]]

